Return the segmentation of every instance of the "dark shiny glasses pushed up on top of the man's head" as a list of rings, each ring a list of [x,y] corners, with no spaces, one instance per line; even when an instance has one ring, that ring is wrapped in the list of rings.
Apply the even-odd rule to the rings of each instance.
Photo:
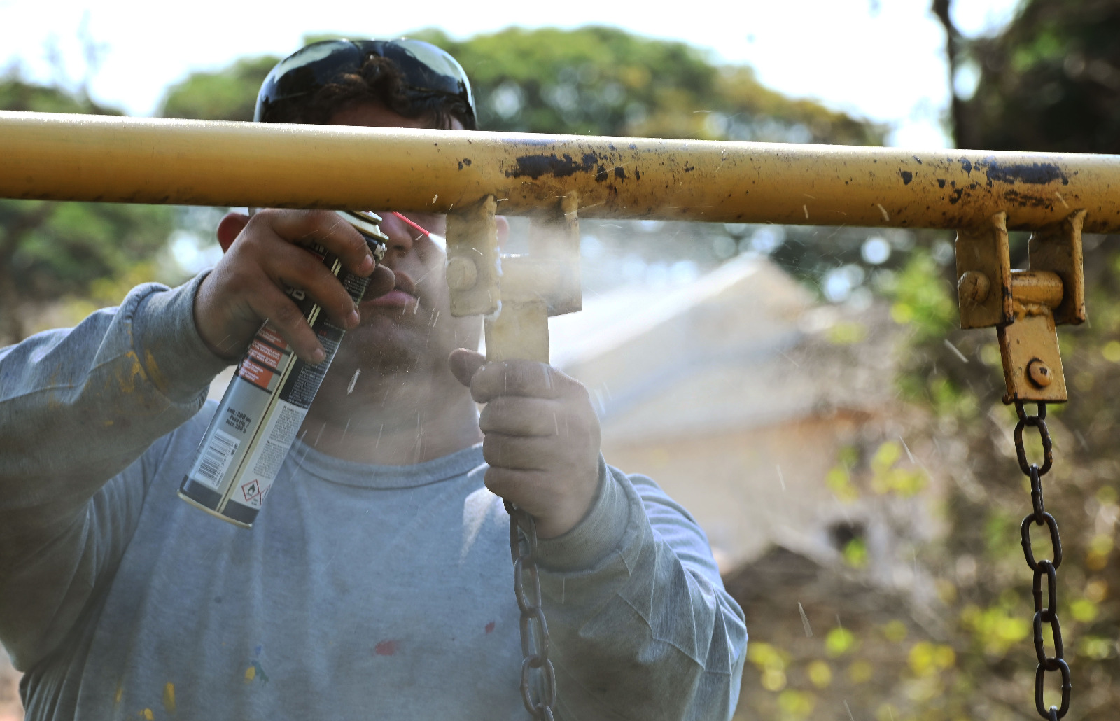
[[[470,113],[469,125],[475,125],[475,97],[463,66],[435,45],[409,39],[324,40],[297,50],[264,78],[253,119],[260,121],[272,103],[311,95],[340,75],[360,71],[371,55],[390,59],[400,68],[409,95],[461,100]]]

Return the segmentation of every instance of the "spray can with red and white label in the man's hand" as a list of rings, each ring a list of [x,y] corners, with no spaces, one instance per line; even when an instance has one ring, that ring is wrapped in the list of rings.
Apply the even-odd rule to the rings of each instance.
[[[389,240],[374,213],[338,210],[361,233],[380,263]],[[305,246],[317,255],[354,302],[361,302],[368,278],[343,270],[342,262],[321,245]],[[265,322],[222,396],[179,497],[193,506],[249,528],[307,415],[323,377],[330,367],[344,330],[327,321],[319,306],[298,289],[289,289],[326,357],[318,365],[305,363],[272,326]]]

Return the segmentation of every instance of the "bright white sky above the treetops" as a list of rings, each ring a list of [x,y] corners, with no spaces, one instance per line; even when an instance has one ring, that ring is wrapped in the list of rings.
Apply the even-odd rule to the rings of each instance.
[[[956,0],[954,21],[965,35],[991,32],[1017,3]],[[656,11],[656,4],[635,0],[0,0],[0,68],[19,64],[32,78],[76,86],[91,75],[84,36],[101,54],[91,94],[130,114],[150,115],[167,85],[189,72],[221,67],[243,55],[287,55],[308,32],[392,37],[435,25],[467,37],[511,25],[612,25],[709,48],[716,59],[753,65],[766,85],[787,95],[890,123],[893,144],[936,148],[949,143],[940,127],[949,90],[944,34],[931,4],[693,0]]]

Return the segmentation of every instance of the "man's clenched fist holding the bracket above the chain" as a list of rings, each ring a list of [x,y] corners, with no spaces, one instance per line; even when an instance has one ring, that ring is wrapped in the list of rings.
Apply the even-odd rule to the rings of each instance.
[[[486,363],[458,348],[451,373],[485,403],[478,424],[486,487],[524,508],[552,539],[587,515],[599,480],[599,419],[582,383],[534,360]]]

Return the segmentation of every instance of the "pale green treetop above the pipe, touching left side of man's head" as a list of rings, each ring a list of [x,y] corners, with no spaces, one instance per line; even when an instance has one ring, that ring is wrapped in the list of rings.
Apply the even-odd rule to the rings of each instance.
[[[167,90],[160,115],[250,121],[261,83],[279,62],[278,57],[262,55],[241,58],[218,71],[192,73]]]

